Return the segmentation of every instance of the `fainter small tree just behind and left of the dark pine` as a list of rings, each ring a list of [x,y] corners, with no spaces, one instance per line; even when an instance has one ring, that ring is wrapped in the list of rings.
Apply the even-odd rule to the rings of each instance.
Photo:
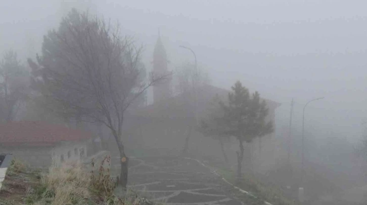
[[[204,134],[204,136],[209,136],[215,140],[218,140],[220,149],[223,154],[224,162],[228,164],[228,157],[224,150],[223,141],[230,140],[230,135],[226,134],[223,130],[223,126],[225,125],[224,112],[223,109],[219,106],[219,96],[216,95],[212,102],[210,102],[208,108],[207,116],[201,120],[199,131]]]

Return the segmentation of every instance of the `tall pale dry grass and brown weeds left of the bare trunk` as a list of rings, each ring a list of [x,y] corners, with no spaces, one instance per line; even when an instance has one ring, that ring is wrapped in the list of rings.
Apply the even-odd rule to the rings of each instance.
[[[137,197],[127,194],[117,197],[114,194],[117,183],[110,176],[109,163],[109,156],[99,166],[93,160],[91,172],[78,162],[54,165],[41,177],[39,186],[29,195],[28,201],[35,205],[137,204]]]

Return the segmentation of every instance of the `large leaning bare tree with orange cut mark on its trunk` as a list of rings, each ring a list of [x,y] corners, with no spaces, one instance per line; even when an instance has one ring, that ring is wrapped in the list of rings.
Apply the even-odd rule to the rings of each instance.
[[[128,157],[122,142],[124,113],[148,87],[164,77],[139,81],[141,49],[97,17],[75,9],[57,31],[44,36],[42,56],[32,67],[33,88],[58,106],[58,112],[80,121],[103,123],[112,132],[120,153],[119,183],[126,187]]]

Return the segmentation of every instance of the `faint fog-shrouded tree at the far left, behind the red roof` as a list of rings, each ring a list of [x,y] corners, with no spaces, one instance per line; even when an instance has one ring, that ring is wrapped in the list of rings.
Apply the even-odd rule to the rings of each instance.
[[[28,97],[29,74],[15,51],[5,52],[0,62],[0,122],[16,117]]]

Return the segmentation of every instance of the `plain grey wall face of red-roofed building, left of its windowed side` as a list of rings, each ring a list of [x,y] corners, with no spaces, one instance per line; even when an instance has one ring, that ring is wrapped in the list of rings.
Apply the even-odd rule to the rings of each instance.
[[[51,165],[51,147],[0,147],[0,153],[11,153],[31,167]]]

